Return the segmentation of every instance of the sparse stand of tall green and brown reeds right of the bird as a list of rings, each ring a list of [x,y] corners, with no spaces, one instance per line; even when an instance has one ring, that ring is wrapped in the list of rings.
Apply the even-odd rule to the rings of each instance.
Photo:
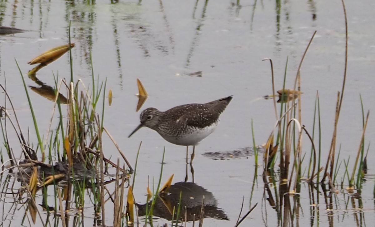
[[[344,3],[343,3],[344,6]],[[345,13],[345,6],[344,6],[344,13]],[[345,13],[345,20],[346,20],[346,13]],[[314,33],[315,35],[315,33]],[[314,37],[313,35],[313,37]],[[312,39],[311,39],[312,41]],[[310,41],[310,43],[311,43]],[[346,40],[347,41],[347,40]],[[308,44],[308,47],[310,45]],[[368,123],[369,112],[365,116],[363,111],[362,105],[362,98],[361,98],[361,105],[362,105],[362,119],[363,119],[363,130],[362,130],[362,137],[359,144],[359,149],[356,155],[356,159],[354,162],[353,170],[348,170],[348,165],[350,159],[344,159],[345,165],[345,173],[342,177],[341,182],[341,190],[338,189],[340,186],[337,183],[337,176],[339,174],[339,168],[341,166],[341,162],[339,162],[340,158],[340,150],[336,152],[336,134],[338,132],[338,121],[340,110],[342,106],[343,100],[343,93],[345,88],[345,79],[346,79],[346,65],[347,59],[345,59],[345,72],[343,78],[343,85],[341,92],[337,94],[337,101],[336,101],[336,111],[335,111],[335,122],[333,125],[333,136],[329,148],[329,154],[327,157],[327,162],[325,167],[321,166],[321,119],[320,119],[320,105],[319,105],[319,94],[317,92],[316,100],[315,100],[315,112],[314,112],[314,126],[312,129],[312,134],[309,133],[308,128],[302,124],[302,109],[301,109],[301,77],[300,77],[300,68],[303,62],[303,59],[306,55],[308,47],[305,50],[305,53],[302,57],[300,62],[299,69],[297,70],[297,75],[295,79],[295,87],[293,91],[293,95],[285,95],[284,99],[286,100],[284,103],[281,102],[280,112],[278,113],[278,109],[276,108],[276,99],[275,99],[275,85],[273,80],[273,65],[272,60],[271,63],[271,71],[272,71],[272,86],[273,86],[273,102],[275,108],[275,116],[277,119],[275,129],[270,134],[267,143],[266,149],[264,153],[264,173],[263,173],[263,181],[265,184],[264,187],[264,200],[268,200],[269,205],[276,211],[278,217],[278,225],[280,226],[293,226],[299,225],[298,217],[301,212],[300,207],[300,199],[299,194],[301,193],[301,180],[303,179],[302,173],[303,170],[303,160],[305,158],[305,154],[302,150],[302,132],[305,132],[309,138],[311,143],[311,152],[310,152],[310,159],[308,161],[308,171],[307,171],[307,178],[305,178],[306,182],[309,186],[309,199],[310,199],[310,214],[312,217],[312,221],[319,222],[319,204],[321,193],[323,192],[324,195],[324,203],[326,204],[326,209],[328,210],[328,222],[331,226],[333,226],[333,205],[335,203],[339,203],[339,195],[346,197],[349,195],[352,204],[352,208],[355,209],[362,209],[362,197],[361,197],[361,189],[362,189],[362,182],[365,171],[367,170],[366,162],[367,162],[367,155],[365,155],[365,133],[366,133],[366,125]],[[347,46],[345,48],[347,52]],[[347,57],[347,55],[346,55]],[[286,70],[285,70],[286,75]],[[288,91],[285,89],[285,80],[286,76],[284,76],[284,87],[282,91]],[[296,87],[298,88],[296,90]],[[279,93],[280,94],[280,93]],[[317,120],[317,121],[316,121]],[[318,132],[318,146],[315,144],[315,124],[318,124],[317,132]],[[297,130],[296,130],[297,129]],[[279,152],[275,152],[273,149],[275,148],[273,144],[279,146]],[[340,147],[341,148],[341,147]],[[277,148],[276,148],[277,149]],[[278,155],[276,155],[278,154]],[[278,158],[277,158],[278,157]],[[274,172],[274,167],[279,167],[279,173]],[[323,173],[323,177],[320,177],[320,172]],[[269,176],[269,177],[267,177]],[[357,178],[356,178],[357,176]],[[356,179],[355,179],[356,178]],[[348,187],[345,189],[344,187],[344,180],[347,179]],[[276,186],[278,184],[278,186]],[[321,189],[320,189],[320,187]],[[354,186],[356,186],[356,192],[354,191]],[[274,190],[272,190],[272,188]],[[316,193],[315,193],[316,192]],[[345,192],[345,193],[343,193]],[[375,197],[375,188],[374,188],[374,197]],[[293,201],[291,201],[291,198]],[[357,202],[358,201],[358,202]],[[359,216],[359,215],[358,215]],[[355,215],[355,219],[361,220],[364,218],[362,214],[359,217]],[[313,226],[313,225],[312,225]],[[314,224],[315,226],[315,224]]]

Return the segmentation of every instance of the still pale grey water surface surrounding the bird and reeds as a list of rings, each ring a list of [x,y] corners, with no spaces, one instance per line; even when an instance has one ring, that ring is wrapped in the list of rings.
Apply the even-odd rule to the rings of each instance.
[[[346,4],[348,76],[338,125],[338,143],[341,157],[345,159],[354,157],[362,134],[360,95],[365,111],[371,111],[366,140],[370,142],[375,137],[372,112],[375,108],[375,29],[371,26],[375,23],[375,3],[364,0],[347,1]],[[266,143],[275,125],[275,115],[272,101],[262,99],[262,96],[272,93],[270,64],[262,59],[270,57],[273,60],[278,90],[282,88],[285,63],[289,57],[286,87],[293,88],[300,59],[315,30],[317,35],[301,70],[302,121],[312,131],[315,97],[319,91],[322,150],[323,156],[327,156],[336,95],[341,90],[344,74],[345,24],[341,1],[283,1],[279,7],[274,1],[242,1],[240,5],[225,0],[197,1],[196,4],[195,1],[171,0],[142,1],[141,4],[135,1],[116,4],[97,1],[93,5],[82,1],[6,1],[1,2],[0,7],[1,26],[27,30],[0,36],[1,83],[6,75],[7,88],[23,129],[32,128],[32,119],[15,59],[26,74],[32,68],[27,62],[34,56],[68,42],[71,22],[75,79],[92,86],[91,53],[94,74],[99,80],[107,79],[107,91],[110,88],[114,94],[113,104],[105,107],[105,127],[132,164],[142,141],[134,190],[139,201],[145,201],[148,176],[155,182],[158,179],[164,147],[166,164],[162,182],[171,174],[175,174],[174,182],[184,180],[185,147],[167,143],[146,128],[127,139],[139,124],[139,112],[135,112],[138,101],[136,78],[142,81],[150,95],[142,109],[155,107],[165,111],[176,105],[234,96],[216,131],[196,147],[195,183],[212,192],[218,206],[229,217],[229,221],[207,218],[204,224],[234,226],[244,196],[245,210],[250,207],[250,199],[252,205],[259,204],[243,226],[250,223],[254,226],[276,225],[277,217],[272,208],[267,208],[266,204],[263,208],[261,206],[261,178],[255,186],[255,195],[251,197],[255,168],[253,156],[215,161],[201,154],[252,146],[251,121],[254,122],[256,143]],[[202,77],[187,75],[196,71],[202,71]],[[37,77],[53,85],[53,74],[60,79],[69,78],[68,55],[43,68]],[[27,84],[34,85],[28,79]],[[30,95],[39,130],[46,134],[53,103],[31,91]],[[30,138],[36,141],[34,134]],[[305,144],[306,152],[309,152],[310,144],[307,140]],[[371,150],[370,147],[370,162],[375,158]],[[110,140],[105,141],[104,152],[108,157],[118,156]],[[371,175],[374,175],[374,170],[371,167],[369,175],[363,199],[365,209],[370,210],[368,215],[365,214],[366,223],[373,226],[374,202],[371,198],[374,177]],[[191,180],[191,175],[189,177]],[[299,224],[311,224],[308,194],[301,200],[306,212],[300,214]],[[264,206],[268,216],[264,214]],[[318,221],[326,226],[327,214],[323,207],[321,209],[323,214]],[[336,207],[336,210],[335,226],[342,222],[360,226],[351,217],[352,211],[342,211],[345,207]],[[111,222],[110,215],[106,217]]]

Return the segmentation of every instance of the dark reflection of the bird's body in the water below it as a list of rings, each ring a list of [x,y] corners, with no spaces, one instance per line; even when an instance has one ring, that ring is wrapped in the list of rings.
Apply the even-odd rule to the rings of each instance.
[[[203,218],[215,218],[219,220],[229,220],[225,212],[217,208],[217,200],[211,192],[208,192],[204,187],[201,187],[192,182],[177,182],[169,188],[168,193],[159,193],[153,209],[153,215],[172,220],[173,210],[175,211],[174,218],[177,215],[178,202],[180,200],[181,192],[181,211],[180,217],[186,220],[199,220],[201,214],[201,207],[203,201]],[[204,200],[203,200],[204,196]],[[146,212],[146,204],[136,204],[138,207],[139,216],[144,216]],[[151,207],[151,202],[148,203],[148,209]],[[173,209],[174,208],[174,209]],[[195,216],[194,216],[195,214]],[[195,217],[195,220],[194,220]]]

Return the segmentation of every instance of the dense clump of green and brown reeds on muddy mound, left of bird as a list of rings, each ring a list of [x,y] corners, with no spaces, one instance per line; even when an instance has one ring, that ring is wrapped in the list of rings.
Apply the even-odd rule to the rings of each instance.
[[[70,48],[68,47],[68,49]],[[55,102],[48,134],[42,140],[43,137],[38,129],[36,112],[34,112],[34,106],[28,94],[26,81],[19,66],[18,69],[23,80],[37,142],[31,142],[31,138],[28,140],[25,139],[18,123],[17,113],[13,107],[12,100],[10,100],[9,91],[6,90],[6,86],[0,83],[0,87],[6,94],[6,102],[11,104],[13,111],[12,116],[4,111],[4,121],[10,122],[14,129],[14,133],[9,131],[9,127],[3,125],[3,120],[0,121],[3,133],[7,135],[3,137],[3,143],[7,144],[6,150],[11,164],[10,167],[1,172],[1,176],[4,172],[13,171],[13,169],[17,169],[19,172],[18,175],[16,174],[16,177],[13,177],[13,184],[11,183],[12,176],[9,175],[9,181],[3,187],[3,192],[8,190],[8,187],[12,190],[19,190],[20,195],[24,194],[25,191],[27,192],[25,200],[31,202],[28,202],[29,205],[27,206],[24,220],[26,220],[26,217],[30,218],[29,223],[41,222],[43,226],[46,226],[40,213],[40,207],[37,205],[37,200],[40,199],[43,209],[46,211],[55,211],[56,217],[61,217],[62,225],[69,226],[72,214],[80,214],[80,210],[86,205],[85,200],[87,200],[87,193],[89,193],[91,202],[93,203],[95,221],[101,219],[103,226],[105,225],[106,211],[104,208],[106,203],[112,202],[114,212],[117,214],[114,217],[114,226],[123,226],[125,221],[121,213],[124,211],[122,202],[124,198],[123,191],[129,184],[129,174],[133,170],[120,148],[114,142],[113,137],[111,137],[103,125],[104,102],[102,103],[103,106],[100,106],[103,109],[101,115],[98,115],[96,112],[96,108],[99,106],[99,99],[105,95],[105,83],[99,84],[98,81],[94,83],[92,90],[89,91],[81,81],[73,81],[73,73],[71,74],[72,83],[67,83],[64,80],[58,83],[55,80],[55,87],[60,87],[57,84],[66,85],[69,91],[68,103],[68,99],[61,94],[55,93],[54,88],[38,80],[35,75],[30,75],[31,80],[40,86],[30,86],[31,90]],[[94,81],[94,76],[92,75],[92,77]],[[68,103],[66,105],[66,112],[64,112],[63,103]],[[52,119],[55,117],[56,106],[58,109],[58,121],[55,130],[50,130],[53,123]],[[117,161],[117,164],[115,164],[105,157],[105,153],[103,152],[104,147],[102,146],[102,136],[104,136],[102,132],[105,132],[110,137],[121,154],[124,160],[124,163],[121,164],[122,168],[120,167],[120,161]],[[24,154],[22,164],[21,162],[18,164],[18,161],[16,162],[13,159],[13,149],[10,147],[8,140],[9,136],[12,135],[11,133],[15,134],[19,139],[20,144],[17,147],[20,147]],[[37,146],[34,147],[32,144],[37,144]],[[109,178],[107,175],[110,167],[116,169],[115,179]],[[1,178],[1,180],[3,179]],[[20,181],[20,183],[17,184],[16,180]],[[113,187],[108,189],[108,184],[114,184],[115,189],[113,190]],[[47,189],[48,187],[54,188],[54,194],[47,195],[51,191]],[[113,192],[110,190],[113,190]],[[42,196],[39,196],[40,192]],[[110,195],[111,200],[108,200],[108,195]],[[54,202],[52,204],[49,204],[51,200],[47,199],[48,196],[53,196]],[[17,201],[17,204],[15,203],[14,206],[14,212],[19,210],[19,205],[26,204],[27,202],[23,201],[24,198],[22,196],[17,198],[16,194],[14,199]],[[77,221],[77,218],[80,218],[79,222],[83,221],[82,216],[74,216],[75,221]]]

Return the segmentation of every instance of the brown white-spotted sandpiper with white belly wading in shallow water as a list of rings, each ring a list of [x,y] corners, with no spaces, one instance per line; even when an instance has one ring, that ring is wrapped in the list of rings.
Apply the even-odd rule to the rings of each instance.
[[[130,133],[128,138],[139,128],[151,128],[157,131],[166,141],[186,146],[186,152],[189,146],[193,146],[190,159],[190,162],[192,162],[195,155],[195,145],[213,133],[217,124],[219,124],[220,114],[232,98],[233,96],[228,96],[208,103],[175,106],[164,112],[156,108],[147,108],[141,113],[141,124]]]

